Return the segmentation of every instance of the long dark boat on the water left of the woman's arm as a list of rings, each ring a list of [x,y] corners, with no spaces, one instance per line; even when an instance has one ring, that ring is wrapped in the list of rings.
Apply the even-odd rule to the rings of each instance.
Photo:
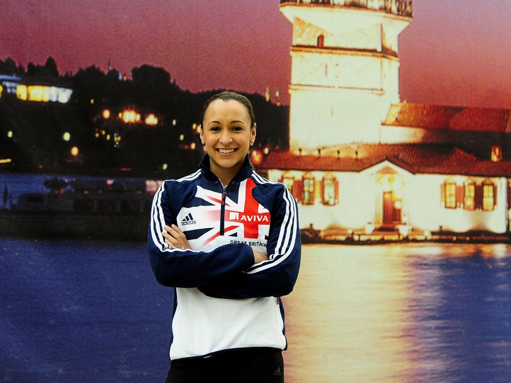
[[[144,180],[47,179],[48,192],[21,194],[0,210],[0,237],[145,241],[153,199],[147,185]]]

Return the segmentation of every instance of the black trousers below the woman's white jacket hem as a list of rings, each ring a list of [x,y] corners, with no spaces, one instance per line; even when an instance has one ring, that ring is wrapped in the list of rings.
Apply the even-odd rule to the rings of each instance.
[[[284,383],[282,351],[274,348],[227,350],[170,364],[166,383]]]

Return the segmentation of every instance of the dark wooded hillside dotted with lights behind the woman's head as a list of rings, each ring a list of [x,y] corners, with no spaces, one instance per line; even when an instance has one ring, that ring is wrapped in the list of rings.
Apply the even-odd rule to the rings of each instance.
[[[192,93],[182,90],[164,68],[134,67],[131,79],[118,70],[104,73],[96,66],[74,75],[59,75],[55,60],[27,69],[7,58],[0,60],[0,74],[16,75],[21,83],[73,89],[67,104],[18,100],[14,94],[0,98],[0,158],[12,158],[14,171],[74,172],[83,174],[179,177],[196,169],[203,153],[193,124],[199,124],[204,101],[220,90]],[[288,145],[288,107],[267,102],[260,94],[245,94],[253,103],[258,123],[257,144],[272,150]],[[115,116],[131,107],[141,114],[154,113],[158,125],[126,125]],[[108,120],[104,109],[112,111]],[[98,131],[122,137],[97,137]],[[71,136],[63,140],[63,134]],[[180,137],[184,137],[183,140]],[[110,137],[111,138],[111,137]],[[190,144],[195,142],[195,150]],[[71,147],[79,155],[70,154]],[[166,166],[164,166],[166,164]]]

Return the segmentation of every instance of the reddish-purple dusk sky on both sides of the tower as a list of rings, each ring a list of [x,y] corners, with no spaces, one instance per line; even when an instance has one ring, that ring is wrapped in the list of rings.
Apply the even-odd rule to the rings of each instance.
[[[229,88],[288,102],[291,24],[278,0],[4,0],[0,59],[76,73],[164,67],[183,89]],[[511,108],[511,2],[415,0],[400,36],[409,102]]]

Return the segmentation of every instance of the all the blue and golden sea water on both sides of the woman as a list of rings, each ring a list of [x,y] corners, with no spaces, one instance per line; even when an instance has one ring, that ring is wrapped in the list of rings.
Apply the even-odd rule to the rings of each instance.
[[[511,247],[306,245],[286,382],[511,381]],[[144,243],[0,238],[0,381],[158,382],[171,289]]]

